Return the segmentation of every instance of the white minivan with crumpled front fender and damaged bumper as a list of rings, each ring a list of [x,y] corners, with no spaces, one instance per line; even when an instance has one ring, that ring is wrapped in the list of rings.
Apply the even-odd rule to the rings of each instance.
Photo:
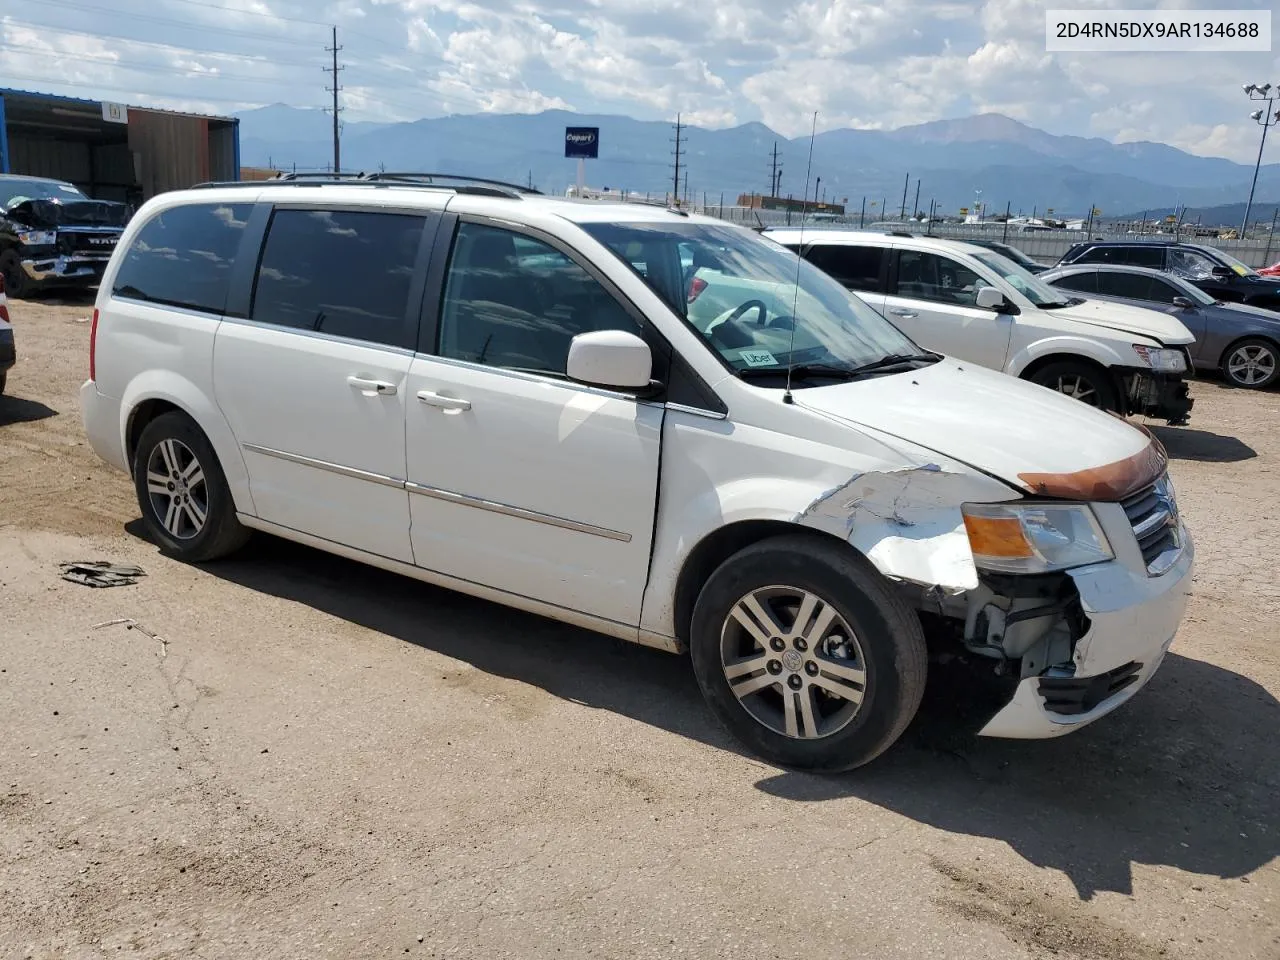
[[[691,323],[704,266],[765,298]],[[411,178],[164,193],[106,271],[90,371],[92,447],[168,553],[262,530],[687,650],[782,764],[893,742],[925,625],[1004,677],[983,733],[1079,728],[1152,676],[1192,579],[1149,435],[649,206]]]

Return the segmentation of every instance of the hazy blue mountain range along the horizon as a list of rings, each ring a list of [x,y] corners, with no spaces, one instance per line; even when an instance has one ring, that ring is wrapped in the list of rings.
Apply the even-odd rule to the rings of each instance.
[[[239,114],[241,160],[246,166],[319,170],[333,160],[332,120],[320,110],[273,105]],[[404,123],[346,123],[346,170],[443,170],[520,183],[563,193],[576,179],[576,161],[563,156],[564,127],[599,127],[600,156],[586,163],[591,187],[669,193],[675,128],[627,116],[548,110],[540,114],[472,114]],[[782,196],[805,192],[809,140],[790,140],[762,123],[728,129],[685,127],[681,133],[681,193],[732,204],[739,193],[769,192],[772,151],[782,165]],[[835,129],[813,143],[813,186],[828,201],[846,201],[868,216],[897,215],[910,175],[910,212],[916,180],[920,209],[931,201],[946,212],[980,198],[988,214],[1006,204],[1014,212],[1053,209],[1082,215],[1091,205],[1105,216],[1135,215],[1175,206],[1206,209],[1243,201],[1253,168],[1188,154],[1166,143],[1112,143],[1097,137],[1057,136],[1000,114],[936,120],[892,131]],[[687,174],[687,180],[685,175]],[[820,186],[817,183],[820,178]],[[1267,164],[1258,198],[1280,197],[1280,165]],[[1261,202],[1261,201],[1256,201]],[[1266,205],[1270,218],[1268,201]]]

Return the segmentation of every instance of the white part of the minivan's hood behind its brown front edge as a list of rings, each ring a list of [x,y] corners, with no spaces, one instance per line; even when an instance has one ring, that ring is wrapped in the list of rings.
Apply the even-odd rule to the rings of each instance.
[[[1151,445],[1076,399],[956,360],[795,392],[797,406],[927,447],[1027,489],[1028,475],[1078,474]],[[1024,477],[1024,479],[1020,479]]]

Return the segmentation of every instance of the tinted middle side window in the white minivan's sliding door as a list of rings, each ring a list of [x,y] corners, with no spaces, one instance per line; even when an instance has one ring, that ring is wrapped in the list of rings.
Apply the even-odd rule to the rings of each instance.
[[[256,323],[412,346],[408,293],[424,218],[351,210],[271,215],[253,292]]]

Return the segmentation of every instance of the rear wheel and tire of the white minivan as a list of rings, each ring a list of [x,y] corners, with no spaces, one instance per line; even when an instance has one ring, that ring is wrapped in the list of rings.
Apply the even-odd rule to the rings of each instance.
[[[170,557],[202,563],[248,540],[212,444],[186,413],[163,413],[142,430],[133,485],[151,539]]]

